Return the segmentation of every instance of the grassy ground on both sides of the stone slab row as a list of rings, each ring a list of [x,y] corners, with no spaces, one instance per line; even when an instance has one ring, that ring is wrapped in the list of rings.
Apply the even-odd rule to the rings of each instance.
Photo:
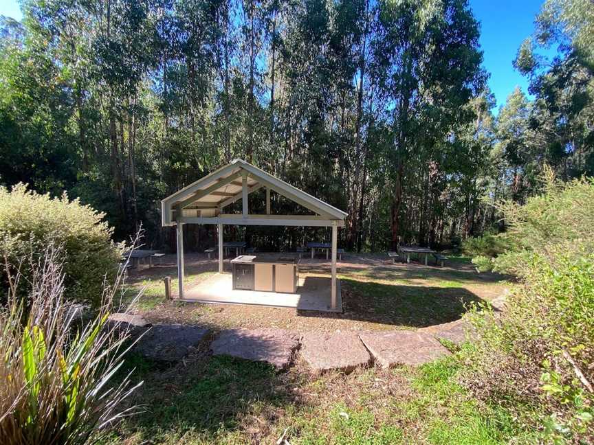
[[[343,314],[164,301],[162,277],[175,276],[169,265],[134,273],[130,292],[146,287],[139,311],[153,323],[192,323],[214,336],[228,327],[430,327],[459,319],[468,304],[497,297],[505,287],[502,277],[478,274],[464,258],[443,269],[390,264],[380,255],[344,260]],[[188,263],[188,282],[194,284],[217,267],[198,256]],[[308,274],[329,269],[327,263],[304,263]],[[104,442],[274,444],[286,430],[292,445],[498,444],[516,428],[505,411],[479,403],[459,385],[463,367],[456,353],[418,368],[316,376],[299,357],[288,371],[276,372],[264,363],[212,356],[210,339],[175,365],[131,354],[122,372],[135,368],[135,380],[144,380],[133,396],[142,412],[114,426]]]

